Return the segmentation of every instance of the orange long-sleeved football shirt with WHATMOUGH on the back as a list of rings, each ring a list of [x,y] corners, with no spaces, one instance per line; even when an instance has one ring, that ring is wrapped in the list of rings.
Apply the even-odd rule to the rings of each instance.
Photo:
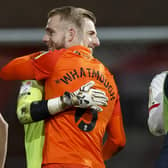
[[[34,53],[20,57],[5,66],[4,79],[45,79],[45,98],[62,96],[81,85],[95,81],[94,88],[105,91],[108,105],[102,112],[71,108],[45,121],[43,164],[71,163],[103,168],[109,159],[125,145],[122,113],[113,75],[90,50],[82,46]],[[24,69],[21,66],[24,64]],[[19,67],[22,68],[19,71]],[[15,72],[10,71],[15,69]],[[12,75],[11,75],[12,73]],[[10,76],[11,75],[11,76]],[[103,137],[107,131],[107,140]]]

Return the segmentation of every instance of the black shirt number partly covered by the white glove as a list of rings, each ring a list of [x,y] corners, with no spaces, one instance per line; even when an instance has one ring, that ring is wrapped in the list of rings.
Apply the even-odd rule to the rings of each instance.
[[[75,123],[79,121],[82,115],[86,112],[86,109],[77,108],[75,112]],[[92,131],[96,125],[97,121],[97,111],[91,109],[90,112],[92,113],[92,120],[89,124],[85,123],[83,120],[78,124],[78,127],[85,132]]]

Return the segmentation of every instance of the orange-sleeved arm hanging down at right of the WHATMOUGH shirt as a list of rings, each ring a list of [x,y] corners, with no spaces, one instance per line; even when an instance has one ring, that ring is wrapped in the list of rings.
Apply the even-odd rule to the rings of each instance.
[[[119,98],[116,101],[115,109],[113,111],[106,131],[107,140],[105,141],[102,150],[104,160],[108,160],[111,156],[120,152],[126,144]]]

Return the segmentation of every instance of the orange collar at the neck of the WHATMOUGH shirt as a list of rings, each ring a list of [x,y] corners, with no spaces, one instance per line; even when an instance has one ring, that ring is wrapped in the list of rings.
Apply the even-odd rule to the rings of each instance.
[[[87,47],[84,47],[84,46],[72,46],[72,47],[68,48],[68,50],[70,50],[71,52],[73,52],[77,55],[84,56],[86,58],[93,58],[91,50]]]

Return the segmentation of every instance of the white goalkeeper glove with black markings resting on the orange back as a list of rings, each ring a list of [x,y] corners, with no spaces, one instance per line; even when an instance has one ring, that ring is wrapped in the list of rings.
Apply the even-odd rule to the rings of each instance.
[[[73,93],[65,92],[62,97],[63,104],[65,106],[91,108],[96,111],[102,111],[102,108],[99,106],[106,106],[108,98],[103,91],[91,89],[94,85],[95,82],[90,81]]]

